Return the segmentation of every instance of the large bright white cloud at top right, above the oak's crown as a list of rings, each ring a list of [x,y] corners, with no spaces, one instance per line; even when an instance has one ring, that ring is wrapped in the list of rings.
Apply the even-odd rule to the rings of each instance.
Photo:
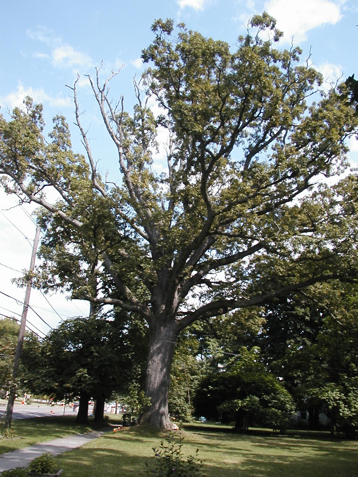
[[[277,28],[284,32],[283,42],[306,40],[306,33],[316,27],[335,24],[342,18],[342,1],[332,0],[269,0],[265,10],[277,20]]]

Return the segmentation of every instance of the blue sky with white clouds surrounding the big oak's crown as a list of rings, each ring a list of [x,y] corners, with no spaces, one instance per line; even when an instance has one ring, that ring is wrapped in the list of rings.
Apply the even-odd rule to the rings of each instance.
[[[72,85],[79,73],[83,122],[89,128],[95,159],[103,172],[108,169],[116,174],[116,151],[105,136],[84,75],[94,76],[95,67],[102,61],[103,78],[112,69],[122,67],[112,83],[111,94],[114,98],[124,94],[125,107],[130,111],[134,103],[132,80],[143,71],[140,54],[153,38],[150,26],[154,19],[185,22],[188,28],[227,41],[234,48],[249,17],[263,10],[273,15],[277,27],[284,31],[280,47],[288,48],[293,38],[294,44],[303,49],[303,58],[311,52],[310,61],[327,79],[327,88],[329,81],[340,76],[345,79],[356,73],[358,77],[358,0],[14,0],[2,5],[0,112],[8,117],[7,110],[20,105],[28,94],[43,104],[48,131],[55,114],[66,116],[74,149],[84,153],[72,124],[71,91],[65,86]],[[355,142],[351,147],[350,157],[356,163],[358,147]],[[3,193],[0,199],[0,291],[18,300],[0,295],[0,313],[21,314],[24,290],[11,284],[11,278],[19,273],[7,267],[15,270],[29,267],[32,246],[25,236],[31,242],[35,227],[26,212],[31,213],[32,208],[26,207],[26,212],[23,208],[13,208],[13,198]],[[88,312],[85,303],[66,301],[63,295],[47,299],[63,318]],[[53,327],[60,318],[48,301],[33,290],[31,305]],[[28,320],[42,332],[49,330],[31,310]]]

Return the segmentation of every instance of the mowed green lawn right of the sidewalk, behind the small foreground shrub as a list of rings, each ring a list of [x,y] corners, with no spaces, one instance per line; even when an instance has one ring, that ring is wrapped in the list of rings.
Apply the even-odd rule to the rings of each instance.
[[[327,433],[275,435],[255,430],[246,435],[229,428],[184,426],[183,452],[204,461],[208,477],[357,477],[358,442],[331,439]],[[145,462],[163,435],[140,427],[109,432],[84,447],[56,457],[64,477],[145,476]]]

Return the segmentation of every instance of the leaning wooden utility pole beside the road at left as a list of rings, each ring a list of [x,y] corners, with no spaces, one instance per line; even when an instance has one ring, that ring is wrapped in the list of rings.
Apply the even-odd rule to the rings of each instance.
[[[33,269],[35,267],[36,250],[37,250],[37,244],[39,243],[40,230],[41,230],[41,228],[39,226],[37,226],[36,227],[36,233],[35,233],[35,239],[33,241],[33,247],[32,247],[31,264],[30,264],[30,276],[29,276],[29,280],[27,280],[25,301],[23,303],[21,323],[20,323],[19,338],[17,340],[16,352],[15,352],[15,358],[14,358],[14,369],[12,371],[12,384],[11,384],[11,389],[10,389],[8,406],[6,408],[6,413],[5,413],[5,429],[11,427],[12,411],[13,411],[13,408],[14,408],[14,401],[15,401],[16,387],[17,387],[16,386],[17,366],[18,366],[19,359],[21,357],[23,337],[24,337],[24,334],[25,334],[26,315],[27,315],[27,309],[29,308],[31,285],[32,285],[32,272],[33,272]]]

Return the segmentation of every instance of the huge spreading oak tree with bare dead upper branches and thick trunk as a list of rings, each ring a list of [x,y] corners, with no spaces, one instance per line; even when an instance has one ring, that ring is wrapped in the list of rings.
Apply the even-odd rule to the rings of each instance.
[[[99,71],[88,77],[118,152],[120,185],[96,170],[78,82],[87,162],[73,153],[63,117],[45,141],[41,106],[27,100],[9,121],[1,116],[0,173],[7,192],[42,206],[38,286],[147,321],[151,406],[143,422],[168,428],[182,330],[317,281],[355,277],[355,237],[342,226],[354,214],[333,190],[308,194],[347,166],[345,140],[357,119],[341,90],[317,93],[322,77],[299,48],[274,48],[280,32],[266,13],[253,17],[233,52],[172,21],[152,30],[133,115],[123,98],[110,101],[116,73],[104,84]],[[162,108],[157,118],[149,96]],[[159,126],[168,132],[162,173],[153,162]],[[58,194],[51,203],[50,187]]]

